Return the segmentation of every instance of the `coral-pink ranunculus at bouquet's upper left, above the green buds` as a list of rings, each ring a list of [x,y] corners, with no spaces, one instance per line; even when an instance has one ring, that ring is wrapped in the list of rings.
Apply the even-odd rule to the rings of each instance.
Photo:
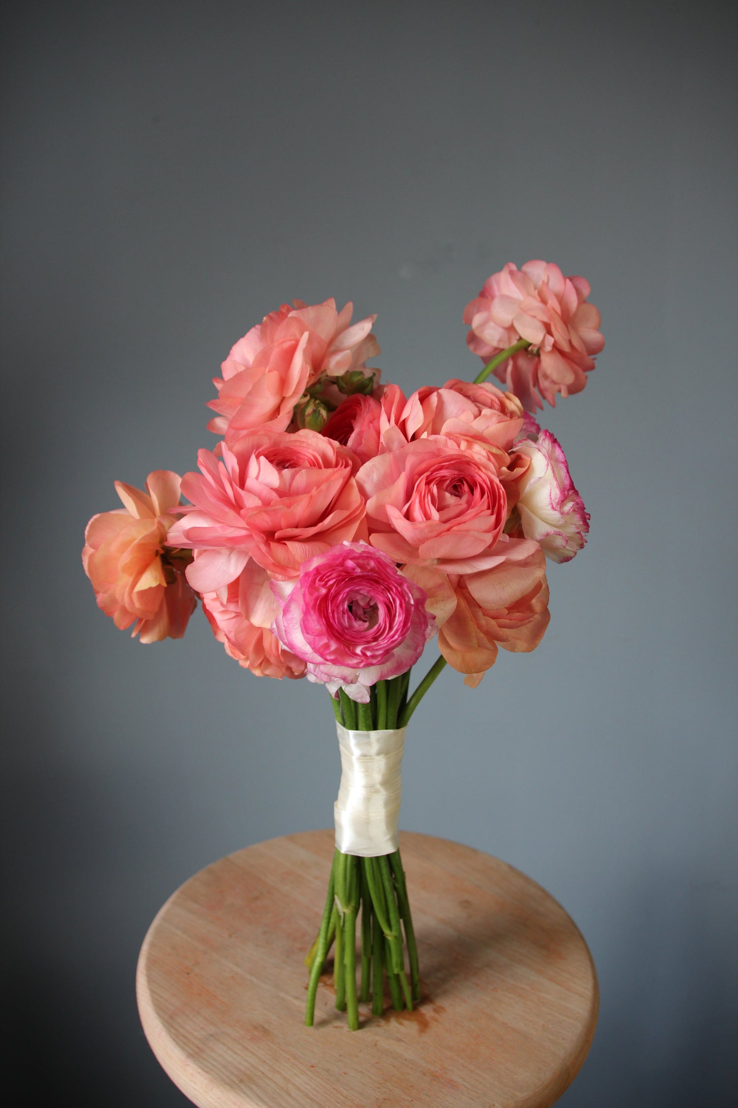
[[[380,352],[371,334],[376,316],[352,326],[352,304],[339,312],[333,298],[293,302],[239,339],[221,366],[222,378],[214,378],[218,397],[208,407],[218,414],[208,428],[229,443],[254,428],[285,431],[297,401],[322,373],[366,372],[367,358]]]

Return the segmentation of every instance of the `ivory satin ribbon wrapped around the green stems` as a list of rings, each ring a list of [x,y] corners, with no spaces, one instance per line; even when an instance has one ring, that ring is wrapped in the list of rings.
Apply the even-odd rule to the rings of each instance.
[[[405,728],[350,731],[336,722],[341,787],[333,806],[335,845],[342,854],[378,858],[397,850]]]

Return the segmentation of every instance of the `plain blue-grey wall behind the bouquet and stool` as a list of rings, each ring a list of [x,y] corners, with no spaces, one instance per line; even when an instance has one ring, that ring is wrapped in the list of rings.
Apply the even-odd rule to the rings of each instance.
[[[410,391],[470,377],[508,259],[585,275],[606,347],[544,420],[592,514],[551,626],[446,671],[402,824],[490,851],[586,936],[602,1009],[561,1101],[729,1105],[737,995],[735,20],[728,4],[17,3],[3,131],[4,911],[14,1104],[174,1106],[134,970],[209,861],[325,825],[324,694],[201,615],[142,647],[82,532],[194,468],[210,377],[282,300],[378,312]],[[318,905],[316,905],[318,910]]]

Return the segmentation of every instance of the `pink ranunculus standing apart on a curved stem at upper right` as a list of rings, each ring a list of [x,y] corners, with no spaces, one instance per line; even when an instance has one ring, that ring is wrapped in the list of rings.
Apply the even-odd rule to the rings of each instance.
[[[604,346],[600,312],[589,295],[583,277],[564,277],[551,263],[527,261],[518,269],[508,261],[466,306],[467,342],[489,361],[526,339],[530,349],[508,358],[495,373],[529,411],[543,407],[541,398],[554,404],[558,392],[582,391]]]

